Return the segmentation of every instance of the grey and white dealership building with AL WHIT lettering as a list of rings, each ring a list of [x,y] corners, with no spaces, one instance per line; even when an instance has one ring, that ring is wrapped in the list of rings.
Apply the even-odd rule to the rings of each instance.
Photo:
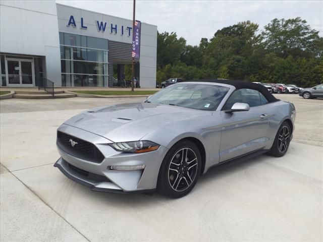
[[[55,1],[0,0],[0,21],[2,87],[37,87],[45,79],[55,87],[119,86],[136,44],[137,85],[155,87],[155,25],[138,22],[133,42],[132,20]]]

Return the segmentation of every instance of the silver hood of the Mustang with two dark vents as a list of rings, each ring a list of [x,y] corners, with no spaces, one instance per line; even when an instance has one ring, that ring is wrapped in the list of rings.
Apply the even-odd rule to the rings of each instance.
[[[98,107],[84,111],[64,124],[113,142],[140,140],[146,134],[174,120],[206,115],[206,111],[153,103],[130,103]]]

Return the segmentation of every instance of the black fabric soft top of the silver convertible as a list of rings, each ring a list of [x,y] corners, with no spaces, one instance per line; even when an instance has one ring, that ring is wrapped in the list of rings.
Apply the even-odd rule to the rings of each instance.
[[[276,97],[271,94],[268,89],[261,84],[253,83],[253,82],[245,82],[245,81],[237,81],[237,80],[226,80],[226,79],[201,79],[201,80],[190,80],[187,82],[213,82],[213,83],[222,83],[234,86],[236,89],[253,89],[259,91],[268,102],[276,102],[279,101]]]

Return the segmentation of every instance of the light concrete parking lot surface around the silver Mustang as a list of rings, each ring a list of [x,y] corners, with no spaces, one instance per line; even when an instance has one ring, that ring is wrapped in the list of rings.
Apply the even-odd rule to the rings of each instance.
[[[56,129],[144,98],[8,99],[1,111],[1,241],[322,241],[323,100],[297,110],[288,153],[213,168],[186,197],[91,192],[53,163]]]

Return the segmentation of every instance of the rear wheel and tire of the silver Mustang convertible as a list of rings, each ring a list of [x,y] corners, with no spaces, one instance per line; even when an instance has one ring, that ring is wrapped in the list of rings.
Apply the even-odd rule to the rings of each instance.
[[[267,153],[276,157],[285,155],[291,141],[291,135],[290,125],[286,121],[283,122],[277,131],[272,148]]]

